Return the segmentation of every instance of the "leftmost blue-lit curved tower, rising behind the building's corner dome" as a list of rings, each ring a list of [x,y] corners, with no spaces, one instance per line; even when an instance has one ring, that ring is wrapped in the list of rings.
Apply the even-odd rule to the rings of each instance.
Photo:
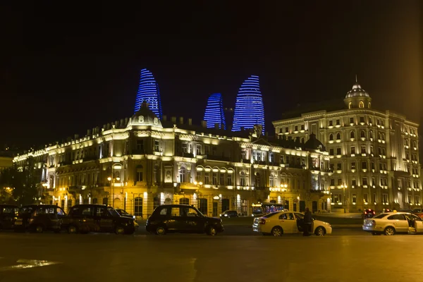
[[[161,119],[161,99],[159,85],[151,71],[143,68],[140,74],[140,86],[138,87],[137,98],[135,99],[135,113],[140,110],[142,102],[149,104],[154,114]]]

